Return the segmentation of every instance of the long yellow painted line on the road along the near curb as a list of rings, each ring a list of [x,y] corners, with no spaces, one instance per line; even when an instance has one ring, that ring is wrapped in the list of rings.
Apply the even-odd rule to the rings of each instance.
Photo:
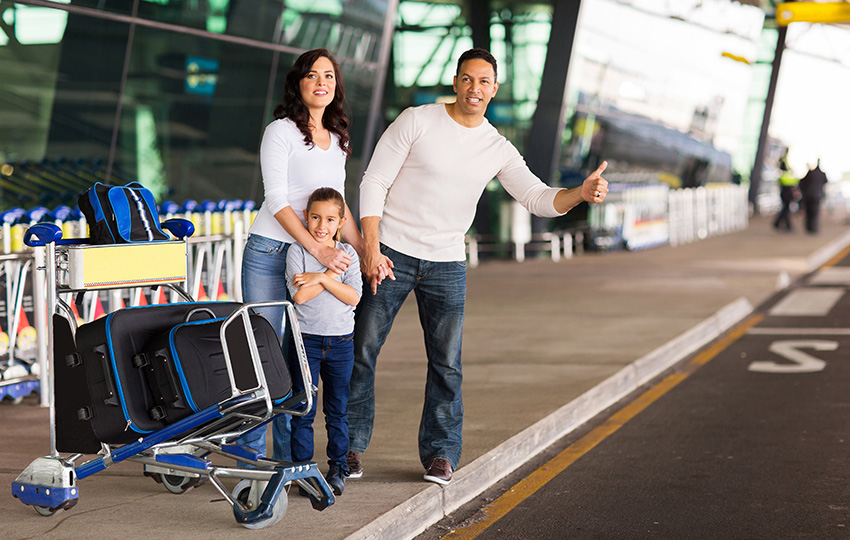
[[[723,352],[729,345],[746,334],[750,328],[761,322],[763,318],[762,315],[754,315],[747,318],[731,332],[695,356],[686,364],[683,371],[672,373],[662,379],[661,382],[611,415],[600,426],[594,428],[590,433],[571,444],[545,465],[517,482],[511,489],[484,509],[486,516],[483,519],[470,523],[465,527],[455,529],[442,538],[451,540],[472,540],[476,538],[488,527],[496,523],[496,521],[506,516],[521,502],[531,497],[531,495],[545,486],[550,480],[561,474],[580,457],[593,450],[596,445],[623,427],[626,422],[640,414],[641,411],[652,405],[658,398],[688,378],[700,366],[707,364],[712,358]]]

